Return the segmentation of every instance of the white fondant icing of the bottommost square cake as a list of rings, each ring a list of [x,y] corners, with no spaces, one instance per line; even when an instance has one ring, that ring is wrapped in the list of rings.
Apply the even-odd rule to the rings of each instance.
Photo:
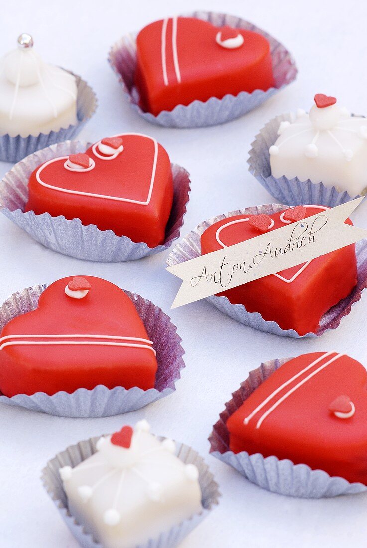
[[[81,487],[82,494],[89,487],[86,502]],[[64,488],[71,514],[105,548],[144,544],[202,510],[197,468],[142,429],[135,429],[130,448],[107,436],[101,450],[72,469]]]

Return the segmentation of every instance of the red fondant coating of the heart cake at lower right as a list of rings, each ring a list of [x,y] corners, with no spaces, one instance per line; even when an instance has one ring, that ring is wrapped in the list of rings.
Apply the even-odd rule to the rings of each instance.
[[[244,419],[277,390],[300,373],[323,352],[291,359],[262,383],[227,420],[230,449],[267,457],[290,459],[295,464],[308,464],[331,476],[350,482],[367,483],[367,374],[355,359],[342,356],[319,370],[284,399],[257,428],[259,420],[309,374],[337,355],[332,352],[280,390],[244,424]],[[329,404],[346,391],[354,403],[351,418],[339,419],[329,411]],[[349,409],[350,410],[350,406]]]

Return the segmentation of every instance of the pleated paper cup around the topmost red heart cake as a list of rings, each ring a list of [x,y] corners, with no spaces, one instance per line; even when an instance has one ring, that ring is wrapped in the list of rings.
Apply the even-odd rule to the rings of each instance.
[[[270,42],[273,59],[275,87],[266,92],[256,89],[254,92],[240,92],[238,95],[227,94],[222,99],[211,97],[207,101],[195,100],[190,105],[177,105],[171,111],[163,110],[158,116],[141,109],[139,91],[135,85],[136,71],[136,33],[130,33],[113,44],[108,54],[108,62],[122,84],[133,109],[148,122],[165,127],[192,128],[205,125],[221,124],[244,115],[255,109],[280,89],[294,81],[297,68],[291,54],[275,38],[252,23],[222,13],[194,12],[184,15],[194,17],[221,27],[228,25],[259,33]]]

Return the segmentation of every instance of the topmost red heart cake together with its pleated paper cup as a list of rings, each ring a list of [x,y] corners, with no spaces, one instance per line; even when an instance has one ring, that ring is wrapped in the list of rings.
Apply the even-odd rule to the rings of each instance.
[[[297,74],[275,38],[248,21],[211,12],[155,21],[115,43],[108,61],[134,109],[166,127],[230,121]]]

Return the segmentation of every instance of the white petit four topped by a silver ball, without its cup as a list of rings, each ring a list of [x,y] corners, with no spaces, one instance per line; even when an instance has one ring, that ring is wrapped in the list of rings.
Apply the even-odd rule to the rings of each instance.
[[[75,77],[46,64],[22,34],[18,48],[0,59],[0,134],[47,134],[76,122]]]

